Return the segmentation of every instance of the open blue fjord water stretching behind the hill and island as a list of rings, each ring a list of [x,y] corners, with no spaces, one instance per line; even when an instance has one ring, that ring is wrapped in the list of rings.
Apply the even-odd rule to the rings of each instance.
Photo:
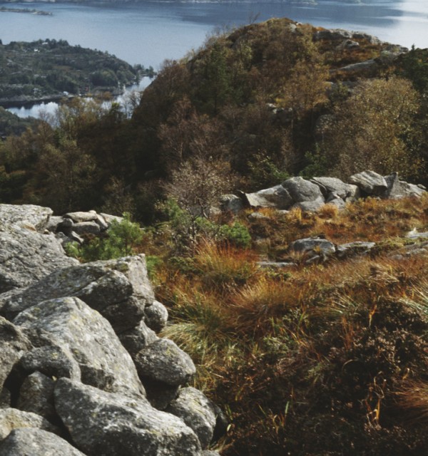
[[[11,6],[1,3],[0,6]],[[327,28],[365,31],[402,46],[428,47],[428,1],[141,1],[139,3],[22,3],[14,7],[51,16],[0,13],[0,39],[66,39],[70,44],[108,51],[129,63],[159,68],[203,44],[215,27],[289,17]]]

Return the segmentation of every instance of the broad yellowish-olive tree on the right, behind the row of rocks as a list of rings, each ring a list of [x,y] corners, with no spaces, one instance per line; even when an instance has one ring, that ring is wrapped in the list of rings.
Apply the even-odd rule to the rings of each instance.
[[[362,170],[382,175],[398,171],[414,177],[422,158],[414,152],[417,92],[402,78],[362,81],[335,110],[335,122],[322,144],[334,173],[348,177]]]

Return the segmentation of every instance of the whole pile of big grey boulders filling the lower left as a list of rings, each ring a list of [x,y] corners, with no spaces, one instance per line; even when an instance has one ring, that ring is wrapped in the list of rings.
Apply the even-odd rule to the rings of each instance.
[[[144,255],[79,264],[50,218],[0,205],[0,455],[203,455],[223,414],[156,334]]]

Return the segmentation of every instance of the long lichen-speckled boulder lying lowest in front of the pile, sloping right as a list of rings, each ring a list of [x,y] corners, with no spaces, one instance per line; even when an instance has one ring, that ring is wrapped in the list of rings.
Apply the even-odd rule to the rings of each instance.
[[[193,430],[146,400],[61,378],[55,405],[73,441],[88,456],[200,455]]]

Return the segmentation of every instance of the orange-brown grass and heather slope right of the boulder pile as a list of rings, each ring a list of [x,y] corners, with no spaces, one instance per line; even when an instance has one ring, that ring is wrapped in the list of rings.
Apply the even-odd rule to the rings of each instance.
[[[223,455],[422,455],[428,388],[428,198],[368,199],[343,212],[292,211],[248,222],[250,250],[202,245],[156,274],[173,338],[198,363],[195,384],[228,412]],[[309,235],[377,242],[370,256],[269,271]],[[255,246],[255,243],[254,243]],[[165,252],[164,252],[165,254]]]

